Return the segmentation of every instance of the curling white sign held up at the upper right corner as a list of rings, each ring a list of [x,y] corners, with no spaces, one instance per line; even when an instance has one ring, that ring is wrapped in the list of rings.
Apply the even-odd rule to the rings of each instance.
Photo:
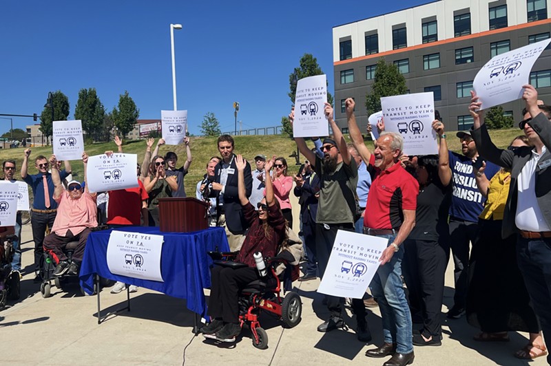
[[[480,109],[520,99],[522,86],[530,82],[534,63],[550,42],[551,39],[545,39],[499,54],[488,61],[472,82],[472,89],[482,103]]]

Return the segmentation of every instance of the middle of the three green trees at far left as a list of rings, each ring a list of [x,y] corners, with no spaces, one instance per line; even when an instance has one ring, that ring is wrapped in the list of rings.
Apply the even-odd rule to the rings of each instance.
[[[96,88],[81,89],[74,108],[74,119],[82,120],[82,129],[87,140],[101,140],[105,108],[96,94]]]

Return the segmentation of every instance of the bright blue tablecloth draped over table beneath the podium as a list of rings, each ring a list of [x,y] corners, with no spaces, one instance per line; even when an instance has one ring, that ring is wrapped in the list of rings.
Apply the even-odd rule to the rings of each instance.
[[[217,247],[222,252],[229,251],[224,228],[208,228],[194,233],[162,233],[158,227],[146,226],[128,226],[116,230],[165,237],[160,260],[164,282],[112,274],[107,268],[106,257],[107,242],[112,230],[95,231],[88,236],[80,272],[81,286],[88,294],[93,293],[94,275],[97,273],[106,279],[186,299],[189,310],[201,316],[207,314],[203,288],[211,286],[209,266],[212,264],[207,252],[216,250]]]

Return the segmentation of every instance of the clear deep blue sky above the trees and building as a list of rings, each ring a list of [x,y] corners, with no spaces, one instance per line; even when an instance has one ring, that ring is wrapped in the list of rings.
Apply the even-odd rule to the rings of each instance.
[[[141,119],[173,109],[170,23],[175,30],[178,109],[198,134],[208,111],[233,130],[280,125],[289,74],[318,58],[333,92],[333,26],[428,3],[397,1],[2,1],[0,114],[41,114],[48,92],[69,98],[95,87],[105,109],[128,90]],[[14,118],[25,129],[32,118]],[[10,121],[0,119],[0,133]]]

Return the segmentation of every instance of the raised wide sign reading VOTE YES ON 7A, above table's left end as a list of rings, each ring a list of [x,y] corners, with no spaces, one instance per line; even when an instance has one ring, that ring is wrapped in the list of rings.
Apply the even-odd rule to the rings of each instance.
[[[113,153],[90,156],[87,164],[87,186],[90,192],[127,189],[138,186],[138,155]]]

